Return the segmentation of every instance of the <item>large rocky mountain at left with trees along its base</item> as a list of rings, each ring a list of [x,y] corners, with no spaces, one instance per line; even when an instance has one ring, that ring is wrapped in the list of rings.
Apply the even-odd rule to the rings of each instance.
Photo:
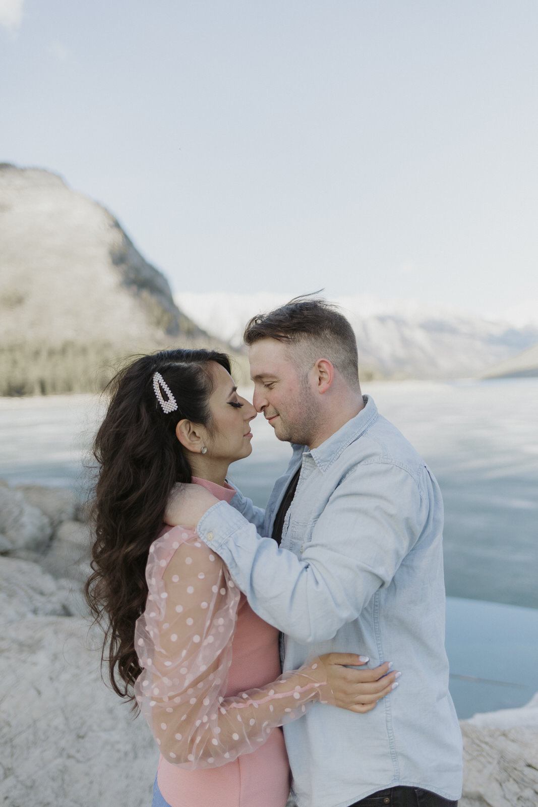
[[[210,341],[104,207],[0,165],[0,395],[93,391],[122,355]]]

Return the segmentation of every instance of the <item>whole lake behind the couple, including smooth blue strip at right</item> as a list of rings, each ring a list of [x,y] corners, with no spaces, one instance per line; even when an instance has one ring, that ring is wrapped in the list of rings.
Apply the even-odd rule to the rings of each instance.
[[[460,717],[538,690],[538,379],[364,385],[444,495],[447,648]],[[0,399],[0,477],[83,489],[98,400]],[[256,418],[231,478],[265,505],[290,448]],[[472,600],[482,600],[473,603]],[[504,605],[495,605],[495,604]],[[525,608],[511,608],[524,606]]]

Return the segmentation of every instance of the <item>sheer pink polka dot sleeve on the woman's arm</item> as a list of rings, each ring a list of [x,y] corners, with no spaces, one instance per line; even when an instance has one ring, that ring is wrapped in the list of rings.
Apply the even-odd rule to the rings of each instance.
[[[240,592],[218,555],[181,527],[154,541],[136,623],[135,694],[161,754],[194,770],[256,751],[271,731],[332,693],[323,664],[225,697]]]

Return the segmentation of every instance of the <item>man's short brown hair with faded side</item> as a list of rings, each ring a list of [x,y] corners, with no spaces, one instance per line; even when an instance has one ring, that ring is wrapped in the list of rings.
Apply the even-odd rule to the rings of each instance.
[[[295,297],[269,314],[256,314],[244,329],[244,342],[275,339],[290,345],[290,358],[307,371],[319,358],[327,358],[351,387],[357,387],[357,340],[348,320],[336,305],[308,295]]]

